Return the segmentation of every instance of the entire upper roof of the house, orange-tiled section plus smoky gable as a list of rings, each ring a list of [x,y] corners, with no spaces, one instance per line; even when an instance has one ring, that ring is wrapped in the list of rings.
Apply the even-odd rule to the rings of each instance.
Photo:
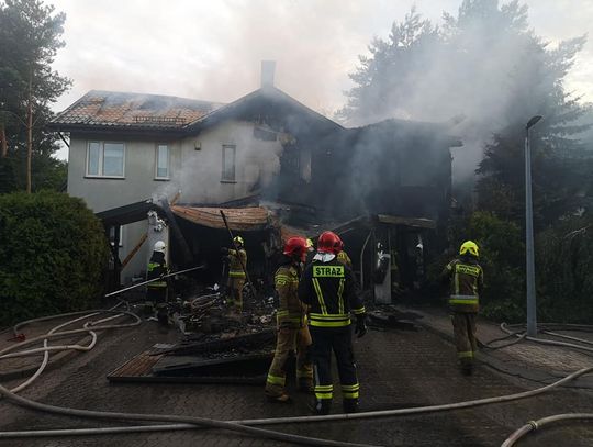
[[[332,132],[342,125],[275,87],[255,90],[228,104],[160,94],[91,90],[49,122],[57,131],[176,131],[195,134],[228,119],[276,119],[293,133]]]

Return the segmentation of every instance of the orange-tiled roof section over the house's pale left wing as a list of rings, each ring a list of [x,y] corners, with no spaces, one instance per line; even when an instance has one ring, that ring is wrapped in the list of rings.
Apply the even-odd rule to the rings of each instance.
[[[91,90],[54,118],[49,126],[178,130],[222,105],[161,94]]]

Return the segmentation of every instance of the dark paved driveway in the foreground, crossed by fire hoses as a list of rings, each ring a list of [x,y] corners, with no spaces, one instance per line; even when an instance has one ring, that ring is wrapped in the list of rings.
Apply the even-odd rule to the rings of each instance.
[[[58,370],[44,373],[22,395],[60,406],[116,412],[194,415],[221,420],[277,417],[310,414],[309,398],[294,394],[288,405],[271,404],[262,389],[253,385],[213,384],[111,384],[108,372],[155,343],[172,342],[153,323],[100,336],[90,353],[78,355]],[[472,377],[455,368],[454,347],[439,336],[419,329],[371,331],[357,340],[361,383],[361,410],[459,402],[534,389],[540,383],[521,381],[481,365]],[[16,381],[2,383],[14,385]],[[277,425],[287,433],[389,446],[500,446],[527,421],[566,412],[590,412],[593,394],[559,390],[512,403],[446,413],[333,423]],[[334,402],[334,413],[340,402]],[[52,416],[0,401],[0,429],[94,427],[104,422]],[[590,446],[593,429],[584,424],[562,424],[528,435],[519,446]],[[0,446],[273,446],[279,442],[257,439],[230,432],[183,432],[0,440]]]

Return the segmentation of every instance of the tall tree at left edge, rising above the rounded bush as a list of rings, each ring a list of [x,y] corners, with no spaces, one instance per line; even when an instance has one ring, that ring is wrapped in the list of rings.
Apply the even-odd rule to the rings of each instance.
[[[4,188],[23,188],[19,172],[25,170],[24,189],[31,192],[34,159],[49,167],[37,172],[41,183],[46,183],[45,175],[52,178],[59,172],[59,164],[47,160],[59,146],[45,124],[53,116],[49,104],[70,86],[69,79],[52,70],[57,51],[65,45],[60,40],[65,20],[64,13],[54,14],[54,7],[40,0],[0,1],[0,171]]]

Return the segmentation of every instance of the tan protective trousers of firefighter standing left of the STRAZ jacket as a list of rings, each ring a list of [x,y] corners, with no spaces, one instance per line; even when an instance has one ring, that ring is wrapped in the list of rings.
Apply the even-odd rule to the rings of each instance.
[[[296,351],[296,381],[299,387],[311,389],[313,385],[309,327],[282,327],[278,331],[276,351],[266,380],[266,394],[271,398],[286,394],[287,361],[291,351]]]

